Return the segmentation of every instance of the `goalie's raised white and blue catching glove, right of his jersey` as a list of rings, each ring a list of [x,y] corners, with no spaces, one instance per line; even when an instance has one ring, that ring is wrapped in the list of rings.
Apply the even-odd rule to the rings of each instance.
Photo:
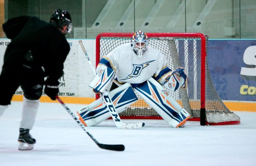
[[[188,77],[184,68],[178,67],[171,75],[165,78],[164,86],[171,90],[176,91],[178,88],[187,89]]]

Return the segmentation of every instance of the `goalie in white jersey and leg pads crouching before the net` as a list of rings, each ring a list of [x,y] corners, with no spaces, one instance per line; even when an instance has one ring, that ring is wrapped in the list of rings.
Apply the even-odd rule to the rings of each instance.
[[[166,87],[172,92],[178,88],[186,89],[186,70],[181,67],[175,71],[169,69],[164,55],[149,46],[147,34],[143,31],[134,33],[131,44],[120,45],[103,56],[96,72],[89,86],[95,93],[101,93],[112,83],[109,97],[117,113],[138,101],[135,91],[171,127],[183,127],[190,118],[187,111],[164,89]],[[102,97],[77,113],[85,126],[95,126],[110,117]]]

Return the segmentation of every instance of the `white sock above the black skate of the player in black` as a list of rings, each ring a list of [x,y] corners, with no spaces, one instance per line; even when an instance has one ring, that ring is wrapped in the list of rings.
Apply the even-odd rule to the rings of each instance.
[[[36,113],[39,107],[39,100],[29,100],[23,97],[22,120],[20,128],[32,129],[36,119]]]

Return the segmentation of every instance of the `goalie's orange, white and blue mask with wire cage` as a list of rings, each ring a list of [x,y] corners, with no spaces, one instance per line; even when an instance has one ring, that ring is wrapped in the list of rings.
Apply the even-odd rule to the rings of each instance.
[[[148,36],[143,31],[137,31],[132,35],[131,46],[139,58],[142,57],[148,47]]]

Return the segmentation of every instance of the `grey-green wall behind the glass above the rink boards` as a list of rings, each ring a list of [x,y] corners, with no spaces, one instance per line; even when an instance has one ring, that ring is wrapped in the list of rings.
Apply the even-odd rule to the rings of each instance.
[[[104,13],[104,8],[110,1],[115,1],[115,4]],[[4,0],[4,20],[20,15],[35,15],[49,21],[52,12],[56,8],[62,8],[71,14],[74,27],[67,38],[95,38],[100,32],[135,30],[202,32],[209,34],[210,38],[256,38],[256,0],[186,0],[186,7],[184,2],[185,0]],[[212,2],[216,3],[207,8]],[[97,19],[101,19],[98,27],[95,26]],[[201,24],[197,25],[198,22]]]

